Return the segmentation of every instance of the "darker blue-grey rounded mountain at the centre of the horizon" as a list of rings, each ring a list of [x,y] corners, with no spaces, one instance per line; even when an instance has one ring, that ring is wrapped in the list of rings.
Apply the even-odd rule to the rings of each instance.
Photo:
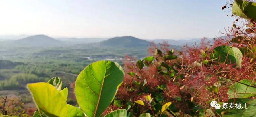
[[[99,43],[100,46],[111,47],[147,47],[150,42],[142,39],[135,38],[133,36],[121,36],[114,37]]]

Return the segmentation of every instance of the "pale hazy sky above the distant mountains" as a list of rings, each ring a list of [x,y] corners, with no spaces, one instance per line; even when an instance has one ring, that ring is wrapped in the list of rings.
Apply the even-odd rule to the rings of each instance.
[[[1,0],[0,35],[215,37],[234,21],[226,16],[231,12],[221,10],[225,3],[226,0]]]

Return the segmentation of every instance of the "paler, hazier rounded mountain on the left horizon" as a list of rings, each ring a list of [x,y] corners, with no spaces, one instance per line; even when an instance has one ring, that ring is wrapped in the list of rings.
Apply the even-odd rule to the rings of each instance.
[[[14,41],[15,45],[35,46],[35,47],[55,46],[55,45],[61,45],[61,43],[62,43],[61,41],[46,35],[34,35],[34,36],[29,36],[29,37]]]

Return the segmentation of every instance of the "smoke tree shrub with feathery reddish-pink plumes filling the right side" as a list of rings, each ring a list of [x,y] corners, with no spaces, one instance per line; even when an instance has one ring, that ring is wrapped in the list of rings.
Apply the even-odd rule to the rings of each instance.
[[[184,45],[179,52],[170,50],[166,42],[160,47],[152,43],[148,57],[154,60],[150,61],[146,61],[148,57],[137,61],[125,56],[124,83],[116,96],[122,107],[132,105],[129,112],[134,116],[143,112],[159,115],[160,105],[170,101],[172,105],[164,113],[167,116],[250,116],[246,112],[255,108],[256,96],[256,6],[248,1],[229,1],[226,5],[233,5],[233,14],[240,16],[226,32],[227,38],[216,38],[213,45],[203,39],[192,47]],[[226,5],[223,9],[230,8]],[[240,20],[243,26],[238,27]],[[134,104],[149,94],[156,97],[153,112]],[[249,109],[217,110],[209,106],[213,100],[244,102],[241,98],[248,100]]]

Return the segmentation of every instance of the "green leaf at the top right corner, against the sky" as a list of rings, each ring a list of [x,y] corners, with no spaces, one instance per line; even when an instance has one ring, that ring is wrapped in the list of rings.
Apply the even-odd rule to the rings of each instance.
[[[256,21],[256,3],[245,0],[235,0],[232,6],[232,13],[245,19]]]

